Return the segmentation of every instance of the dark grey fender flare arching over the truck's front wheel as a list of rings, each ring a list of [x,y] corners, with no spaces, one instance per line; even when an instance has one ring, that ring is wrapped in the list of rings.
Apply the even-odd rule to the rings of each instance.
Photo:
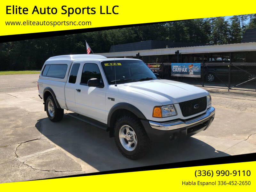
[[[146,119],[146,117],[143,115],[143,113],[136,108],[135,106],[129,104],[129,103],[117,103],[116,105],[114,105],[108,112],[108,127],[111,126],[111,117],[113,115],[113,113],[118,110],[118,109],[126,109],[131,111],[132,113],[134,113],[138,118],[140,119]]]

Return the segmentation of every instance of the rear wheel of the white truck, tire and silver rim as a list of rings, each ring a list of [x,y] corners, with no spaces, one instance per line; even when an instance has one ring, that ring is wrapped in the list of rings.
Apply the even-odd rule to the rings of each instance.
[[[45,105],[46,105],[47,116],[51,121],[56,122],[56,121],[60,121],[63,118],[64,110],[57,108],[57,105],[52,95],[50,95],[47,98]]]

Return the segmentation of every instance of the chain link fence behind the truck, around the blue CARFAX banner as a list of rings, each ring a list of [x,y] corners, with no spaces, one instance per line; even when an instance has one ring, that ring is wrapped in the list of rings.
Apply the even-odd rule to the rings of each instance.
[[[256,91],[256,63],[201,63],[201,77],[198,78],[172,76],[172,64],[164,62],[148,63],[148,67],[154,73],[158,73],[162,79],[203,87],[217,87],[228,89],[228,91],[230,89]]]

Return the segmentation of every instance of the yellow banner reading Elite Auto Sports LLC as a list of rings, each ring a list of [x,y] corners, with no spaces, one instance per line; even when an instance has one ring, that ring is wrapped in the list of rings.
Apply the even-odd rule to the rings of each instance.
[[[255,13],[256,1],[1,1],[0,36]]]

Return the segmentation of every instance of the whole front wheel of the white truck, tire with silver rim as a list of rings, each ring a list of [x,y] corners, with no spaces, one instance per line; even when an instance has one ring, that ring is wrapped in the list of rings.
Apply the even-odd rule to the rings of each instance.
[[[144,127],[134,116],[118,118],[114,133],[117,148],[129,159],[141,158],[151,147],[151,141]]]

